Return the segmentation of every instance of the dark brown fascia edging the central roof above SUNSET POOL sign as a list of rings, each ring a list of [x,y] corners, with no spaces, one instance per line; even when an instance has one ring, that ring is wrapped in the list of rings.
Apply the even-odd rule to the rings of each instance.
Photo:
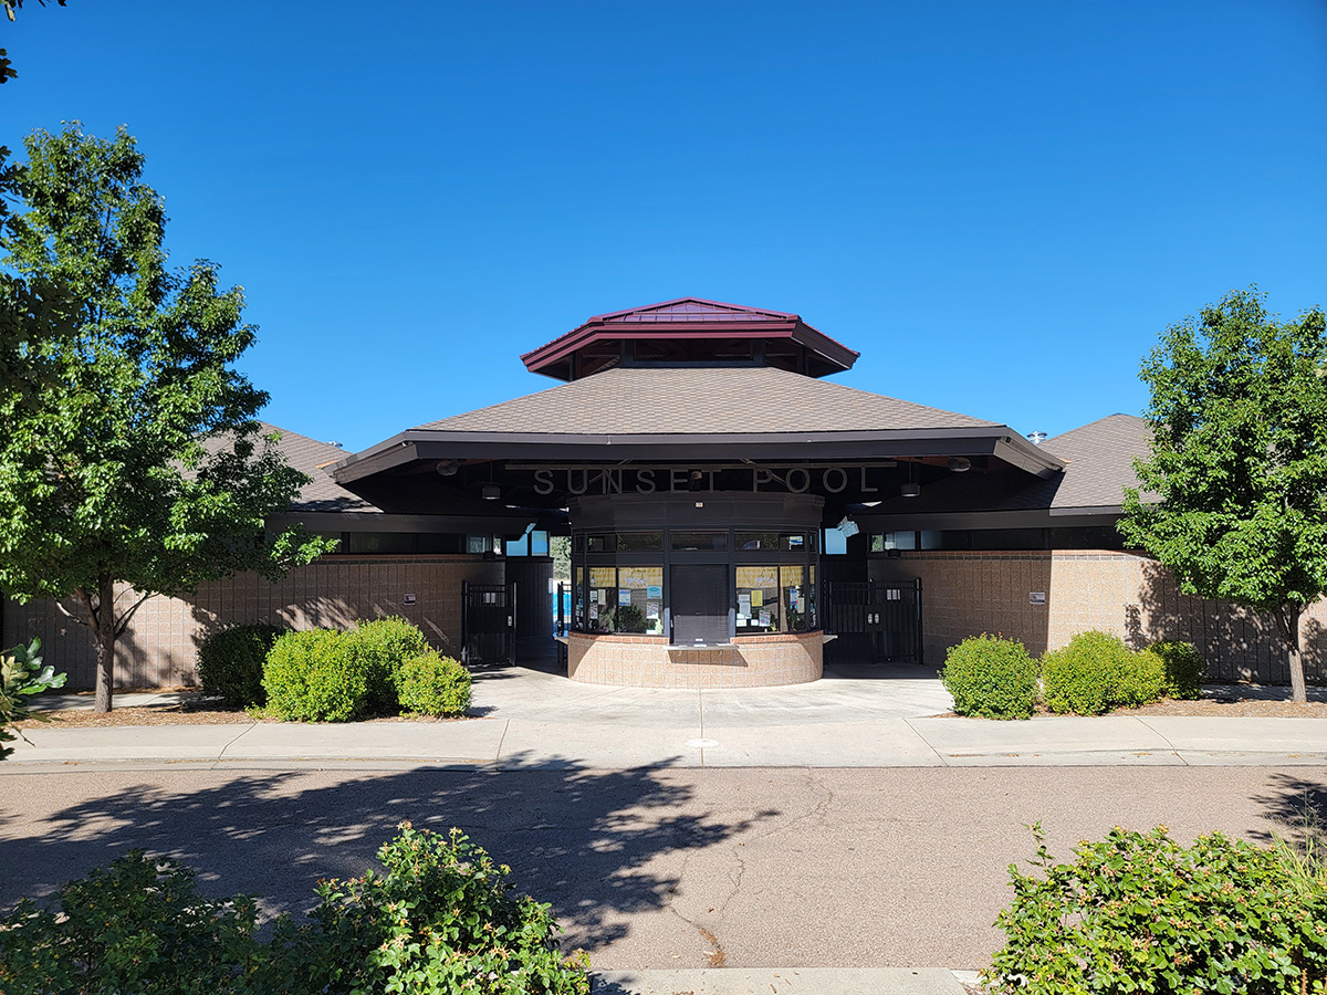
[[[557,432],[441,432],[410,430],[336,464],[345,484],[417,459],[547,459],[547,460],[713,460],[889,459],[893,456],[994,455],[1040,478],[1064,468],[1060,460],[1005,426],[906,429],[874,432],[725,432],[660,435],[573,435]]]

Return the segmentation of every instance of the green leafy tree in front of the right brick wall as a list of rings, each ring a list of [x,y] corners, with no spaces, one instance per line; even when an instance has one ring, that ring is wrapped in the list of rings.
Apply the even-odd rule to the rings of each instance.
[[[1327,334],[1320,309],[1282,322],[1263,301],[1233,291],[1144,361],[1152,456],[1120,531],[1185,593],[1275,618],[1303,702],[1299,620],[1327,593]]]

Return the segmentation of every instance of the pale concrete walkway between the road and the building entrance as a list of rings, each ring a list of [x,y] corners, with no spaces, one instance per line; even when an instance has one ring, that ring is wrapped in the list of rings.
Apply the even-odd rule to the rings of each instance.
[[[121,695],[119,707],[163,695]],[[50,695],[48,707],[90,707]],[[671,691],[577,685],[527,667],[482,673],[456,722],[41,727],[0,772],[32,764],[218,768],[1322,765],[1327,719],[937,718],[933,671],[839,669],[813,685]]]

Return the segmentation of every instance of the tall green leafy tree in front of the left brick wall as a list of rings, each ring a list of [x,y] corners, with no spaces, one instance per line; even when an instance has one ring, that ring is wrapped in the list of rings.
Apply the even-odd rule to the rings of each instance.
[[[25,146],[4,264],[62,288],[76,320],[20,345],[9,360],[27,375],[0,382],[0,589],[74,598],[109,711],[115,641],[147,597],[276,577],[330,544],[264,531],[308,478],[261,435],[267,394],[234,369],[255,333],[240,288],[218,289],[206,261],[167,269],[166,214],[134,139],[73,125]]]

